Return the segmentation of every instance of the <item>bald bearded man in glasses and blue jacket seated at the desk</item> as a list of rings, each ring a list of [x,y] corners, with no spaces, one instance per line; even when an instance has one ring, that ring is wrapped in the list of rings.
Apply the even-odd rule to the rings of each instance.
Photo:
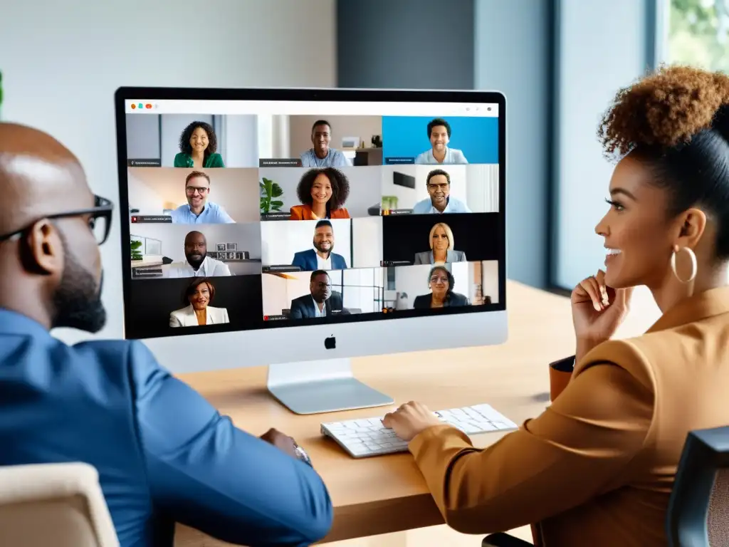
[[[0,465],[93,465],[122,547],[172,546],[175,521],[244,545],[323,538],[330,497],[293,439],[233,427],[138,341],[50,335],[105,320],[112,205],[74,155],[0,123],[0,190]]]

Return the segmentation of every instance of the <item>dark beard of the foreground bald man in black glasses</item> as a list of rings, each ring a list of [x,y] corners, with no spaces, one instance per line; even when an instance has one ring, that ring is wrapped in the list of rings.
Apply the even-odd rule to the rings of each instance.
[[[106,310],[101,303],[104,272],[101,272],[101,282],[97,290],[93,275],[70,252],[63,236],[61,242],[66,255],[66,264],[61,275],[61,284],[53,295],[55,318],[52,326],[98,333],[106,324]]]

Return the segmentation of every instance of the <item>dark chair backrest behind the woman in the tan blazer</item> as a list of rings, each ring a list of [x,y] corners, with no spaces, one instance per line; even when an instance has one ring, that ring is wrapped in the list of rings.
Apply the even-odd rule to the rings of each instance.
[[[666,532],[671,547],[729,545],[729,426],[689,433]]]

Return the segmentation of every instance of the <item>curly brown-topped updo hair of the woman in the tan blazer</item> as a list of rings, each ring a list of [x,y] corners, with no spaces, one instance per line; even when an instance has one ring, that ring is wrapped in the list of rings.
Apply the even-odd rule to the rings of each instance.
[[[631,153],[650,168],[671,217],[693,206],[711,214],[717,259],[729,258],[729,76],[662,66],[618,91],[598,136],[608,157]]]

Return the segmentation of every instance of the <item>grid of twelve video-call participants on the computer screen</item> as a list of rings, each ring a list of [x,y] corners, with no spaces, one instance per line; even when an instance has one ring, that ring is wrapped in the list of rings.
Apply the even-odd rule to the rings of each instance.
[[[292,136],[285,157],[254,158],[231,151],[236,123],[225,116],[160,115],[156,148],[147,139],[149,157],[132,158],[141,148],[129,144],[141,135],[130,117],[132,298],[158,310],[132,337],[201,326],[200,307],[208,326],[240,330],[496,303],[495,118],[367,117],[374,123],[354,125],[381,133],[365,142],[342,136],[348,128],[336,131],[335,117],[289,116],[289,133],[307,128],[308,148]],[[355,117],[345,118],[352,125]],[[251,128],[245,121],[238,131]],[[475,135],[459,138],[456,129]],[[402,133],[409,139],[392,138]],[[176,150],[171,166],[165,148]],[[486,286],[493,294],[483,294]]]

